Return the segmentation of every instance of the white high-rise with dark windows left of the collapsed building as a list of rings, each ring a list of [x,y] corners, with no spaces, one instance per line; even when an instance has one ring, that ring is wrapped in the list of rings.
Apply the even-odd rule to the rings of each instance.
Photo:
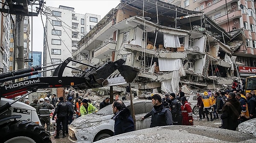
[[[100,20],[100,15],[77,14],[74,8],[59,6],[49,7],[50,14],[47,16],[45,25],[44,41],[44,65],[49,63],[61,63],[76,51],[79,40],[90,31]],[[77,60],[87,59],[86,52],[80,53]],[[69,64],[74,67],[74,63]],[[66,68],[63,76],[71,76],[72,69]],[[45,72],[44,76],[51,76],[51,71]]]

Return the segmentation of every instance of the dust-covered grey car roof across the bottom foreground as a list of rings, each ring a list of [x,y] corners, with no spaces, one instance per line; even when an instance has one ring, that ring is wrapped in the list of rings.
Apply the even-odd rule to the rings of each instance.
[[[250,134],[209,126],[160,126],[115,135],[96,143],[255,143]]]

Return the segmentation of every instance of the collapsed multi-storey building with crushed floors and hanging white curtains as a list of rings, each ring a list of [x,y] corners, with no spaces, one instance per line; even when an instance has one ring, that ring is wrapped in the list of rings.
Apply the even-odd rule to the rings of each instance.
[[[241,41],[239,32],[231,36],[207,15],[163,1],[121,0],[79,41],[73,57],[93,65],[124,59],[140,69],[131,83],[139,95],[177,93],[185,84],[197,91],[224,89],[235,77],[232,54],[239,47],[228,43]]]

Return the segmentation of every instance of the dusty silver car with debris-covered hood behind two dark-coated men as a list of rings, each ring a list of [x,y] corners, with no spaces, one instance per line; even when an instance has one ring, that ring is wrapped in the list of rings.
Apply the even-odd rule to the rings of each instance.
[[[123,102],[131,110],[130,101]],[[133,104],[136,130],[149,128],[151,117],[144,120],[140,118],[153,108],[151,100],[134,100]],[[113,136],[113,115],[112,105],[108,105],[96,113],[77,118],[69,126],[69,140],[73,143],[92,143]]]

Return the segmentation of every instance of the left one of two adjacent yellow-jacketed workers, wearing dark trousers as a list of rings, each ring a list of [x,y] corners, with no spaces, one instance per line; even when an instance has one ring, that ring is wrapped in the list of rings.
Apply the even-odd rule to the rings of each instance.
[[[204,95],[202,96],[202,99],[203,99],[203,103],[204,103],[204,109],[205,109],[205,114],[206,114],[207,121],[209,121],[208,113],[210,113],[211,121],[213,121],[212,113],[209,112],[209,110],[212,107],[212,100],[210,98],[210,95],[208,95],[207,91],[204,92]]]

